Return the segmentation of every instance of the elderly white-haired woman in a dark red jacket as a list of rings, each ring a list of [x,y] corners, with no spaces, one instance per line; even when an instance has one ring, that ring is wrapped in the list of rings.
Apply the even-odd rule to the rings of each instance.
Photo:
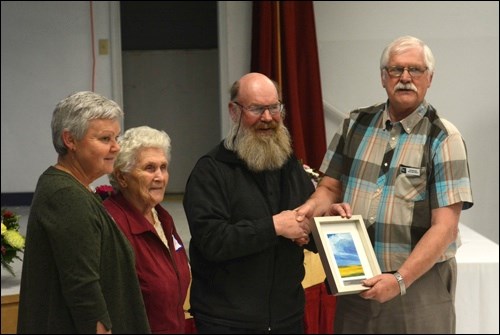
[[[161,206],[168,184],[170,137],[147,126],[128,129],[109,175],[117,191],[104,206],[129,239],[153,333],[185,332],[189,263],[172,216]]]

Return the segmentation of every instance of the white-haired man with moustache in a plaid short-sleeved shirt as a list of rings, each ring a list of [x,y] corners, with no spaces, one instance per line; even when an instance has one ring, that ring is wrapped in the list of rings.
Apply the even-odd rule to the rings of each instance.
[[[427,45],[394,40],[380,71],[387,101],[350,113],[298,215],[361,214],[383,272],[359,295],[337,297],[335,333],[452,334],[458,221],[473,204],[465,143],[425,100]]]

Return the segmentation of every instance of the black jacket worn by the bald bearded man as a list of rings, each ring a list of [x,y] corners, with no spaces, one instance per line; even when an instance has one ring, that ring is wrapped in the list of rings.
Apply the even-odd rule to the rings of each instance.
[[[272,216],[313,191],[295,157],[279,171],[254,173],[221,142],[199,159],[184,194],[195,318],[268,330],[304,317],[303,248],[276,236]]]

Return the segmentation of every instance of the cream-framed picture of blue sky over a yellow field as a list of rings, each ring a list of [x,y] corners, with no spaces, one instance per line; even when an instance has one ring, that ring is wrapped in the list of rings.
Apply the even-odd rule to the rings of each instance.
[[[381,274],[361,215],[315,217],[312,234],[333,295],[367,290],[361,282]]]

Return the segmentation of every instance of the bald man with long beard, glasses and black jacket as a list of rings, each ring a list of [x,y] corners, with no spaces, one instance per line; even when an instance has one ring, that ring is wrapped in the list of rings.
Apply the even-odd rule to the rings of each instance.
[[[230,94],[229,134],[196,163],[184,194],[190,312],[199,333],[304,333],[310,229],[293,210],[314,185],[292,153],[276,83],[249,73]]]

